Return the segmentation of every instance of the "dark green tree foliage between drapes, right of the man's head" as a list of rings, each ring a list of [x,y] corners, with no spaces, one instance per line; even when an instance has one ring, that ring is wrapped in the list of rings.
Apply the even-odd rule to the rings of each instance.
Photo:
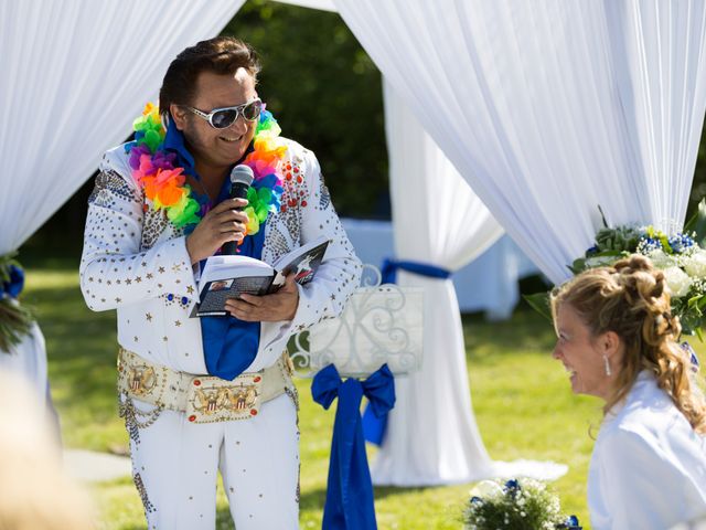
[[[381,75],[338,13],[250,0],[223,34],[260,55],[258,94],[313,150],[342,215],[389,215]]]

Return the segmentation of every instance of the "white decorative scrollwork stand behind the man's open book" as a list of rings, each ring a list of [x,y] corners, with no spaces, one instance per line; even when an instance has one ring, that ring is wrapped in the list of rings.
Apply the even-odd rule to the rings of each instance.
[[[381,285],[381,278],[365,265],[343,314],[295,336],[290,356],[299,375],[313,377],[329,364],[347,378],[366,378],[385,363],[395,377],[419,369],[422,289]]]

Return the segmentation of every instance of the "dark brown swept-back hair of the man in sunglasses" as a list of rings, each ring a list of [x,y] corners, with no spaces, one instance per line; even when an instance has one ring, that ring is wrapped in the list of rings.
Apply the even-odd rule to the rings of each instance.
[[[196,80],[202,72],[235,74],[245,68],[257,81],[260,63],[257,52],[246,42],[233,36],[216,36],[185,49],[174,59],[159,91],[159,108],[169,115],[169,106],[190,105],[193,102]]]

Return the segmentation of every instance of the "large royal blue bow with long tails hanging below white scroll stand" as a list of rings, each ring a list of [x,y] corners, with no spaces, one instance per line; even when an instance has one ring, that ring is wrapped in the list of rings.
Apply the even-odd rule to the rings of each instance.
[[[329,364],[313,378],[311,394],[325,410],[339,399],[321,528],[376,529],[373,481],[365,456],[360,407],[365,395],[375,414],[386,414],[395,405],[395,378],[387,364],[383,364],[365,381],[342,381],[335,365]]]

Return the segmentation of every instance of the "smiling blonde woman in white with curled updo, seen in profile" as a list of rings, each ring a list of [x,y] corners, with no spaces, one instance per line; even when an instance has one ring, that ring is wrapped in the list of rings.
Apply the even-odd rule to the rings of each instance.
[[[706,403],[676,342],[664,275],[632,256],[552,296],[554,358],[606,402],[588,476],[591,526],[667,529],[706,515]]]

